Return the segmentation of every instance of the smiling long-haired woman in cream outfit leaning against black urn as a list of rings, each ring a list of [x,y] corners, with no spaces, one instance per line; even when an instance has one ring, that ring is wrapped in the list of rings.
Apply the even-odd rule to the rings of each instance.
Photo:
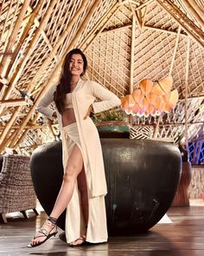
[[[71,50],[59,85],[50,89],[37,107],[48,119],[58,118],[64,176],[54,209],[29,247],[40,246],[57,233],[56,221],[66,208],[69,245],[107,241],[105,170],[99,134],[89,115],[116,107],[120,100],[99,83],[82,81],[86,67],[83,52]],[[48,108],[51,102],[56,111]]]

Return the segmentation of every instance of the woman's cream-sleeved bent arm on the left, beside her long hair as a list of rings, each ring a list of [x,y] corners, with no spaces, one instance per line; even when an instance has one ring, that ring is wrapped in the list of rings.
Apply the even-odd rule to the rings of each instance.
[[[48,117],[48,119],[53,119],[56,116],[55,110],[48,108],[48,106],[54,102],[54,91],[56,87],[49,89],[48,93],[41,98],[41,101],[37,105],[36,110],[39,111],[42,115]]]

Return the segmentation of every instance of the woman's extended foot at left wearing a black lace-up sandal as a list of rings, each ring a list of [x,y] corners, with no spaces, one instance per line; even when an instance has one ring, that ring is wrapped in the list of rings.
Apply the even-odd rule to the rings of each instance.
[[[35,234],[28,247],[41,246],[46,240],[55,236],[57,232],[56,219],[49,217],[41,229]]]

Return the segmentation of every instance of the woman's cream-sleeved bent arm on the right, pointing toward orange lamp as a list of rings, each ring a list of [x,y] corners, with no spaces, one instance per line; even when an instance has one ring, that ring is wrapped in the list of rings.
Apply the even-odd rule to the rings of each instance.
[[[92,82],[92,93],[100,102],[93,102],[93,113],[99,113],[110,108],[117,107],[121,104],[117,95],[114,95],[110,90],[105,89],[98,82]]]

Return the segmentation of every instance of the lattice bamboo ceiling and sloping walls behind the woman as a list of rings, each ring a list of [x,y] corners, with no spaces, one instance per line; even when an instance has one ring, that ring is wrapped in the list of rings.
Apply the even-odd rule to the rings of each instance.
[[[35,111],[59,78],[67,51],[86,52],[87,77],[119,97],[144,78],[172,75],[179,102],[158,117],[133,118],[155,137],[204,138],[202,0],[3,0],[0,3],[0,151],[30,152],[57,140]]]

